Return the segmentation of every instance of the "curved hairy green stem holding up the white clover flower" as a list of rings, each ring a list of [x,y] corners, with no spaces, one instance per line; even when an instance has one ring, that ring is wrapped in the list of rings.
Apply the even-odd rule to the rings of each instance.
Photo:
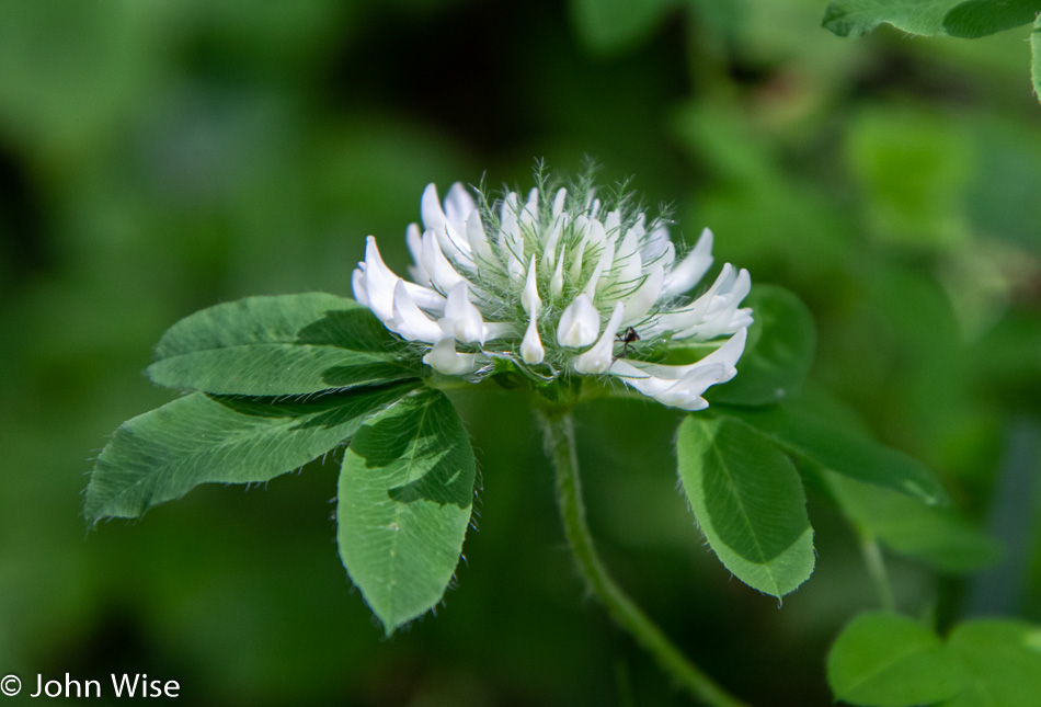
[[[611,618],[696,699],[710,707],[742,707],[743,703],[679,652],[647,614],[633,604],[604,567],[585,521],[571,410],[564,407],[544,409],[540,410],[539,419],[547,452],[557,470],[557,502],[564,533],[590,591],[607,608]]]

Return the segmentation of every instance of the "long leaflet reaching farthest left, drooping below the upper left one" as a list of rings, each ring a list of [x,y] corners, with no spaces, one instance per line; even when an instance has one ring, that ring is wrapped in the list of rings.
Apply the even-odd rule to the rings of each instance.
[[[306,402],[194,392],[129,420],[94,465],[85,515],[137,517],[199,483],[266,481],[351,437],[415,383],[332,392]]]

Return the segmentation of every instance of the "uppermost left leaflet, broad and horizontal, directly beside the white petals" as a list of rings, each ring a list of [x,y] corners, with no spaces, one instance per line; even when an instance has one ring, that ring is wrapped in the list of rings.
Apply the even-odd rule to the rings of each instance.
[[[306,395],[421,375],[367,308],[320,293],[195,312],[163,334],[155,357],[155,383],[218,395]]]

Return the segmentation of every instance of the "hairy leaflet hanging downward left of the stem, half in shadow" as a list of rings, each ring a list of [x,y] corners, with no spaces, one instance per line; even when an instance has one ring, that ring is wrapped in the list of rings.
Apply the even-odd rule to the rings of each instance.
[[[340,474],[340,556],[387,634],[445,593],[470,522],[476,467],[445,395],[421,389],[366,421]]]

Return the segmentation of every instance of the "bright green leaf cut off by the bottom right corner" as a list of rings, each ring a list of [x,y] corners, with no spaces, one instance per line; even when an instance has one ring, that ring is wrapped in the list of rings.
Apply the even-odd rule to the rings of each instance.
[[[966,689],[946,707],[1036,707],[1041,697],[1041,627],[1013,620],[962,624],[947,639],[964,664]]]

